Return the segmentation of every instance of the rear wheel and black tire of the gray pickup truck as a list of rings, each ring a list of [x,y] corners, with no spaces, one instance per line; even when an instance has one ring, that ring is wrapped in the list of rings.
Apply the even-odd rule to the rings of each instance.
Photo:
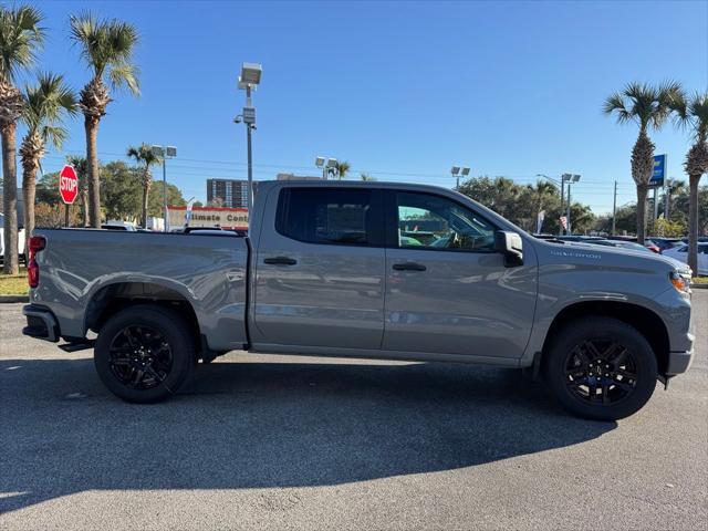
[[[183,316],[155,304],[122,310],[101,329],[94,364],[101,381],[126,402],[150,404],[191,376],[195,340]]]

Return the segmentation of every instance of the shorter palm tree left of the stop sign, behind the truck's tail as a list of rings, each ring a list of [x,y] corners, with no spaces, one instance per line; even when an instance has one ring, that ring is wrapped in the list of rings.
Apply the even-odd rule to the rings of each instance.
[[[44,157],[46,143],[60,149],[66,138],[66,129],[62,124],[65,114],[76,114],[76,96],[66,86],[62,75],[40,74],[37,85],[24,88],[22,119],[27,125],[27,134],[20,146],[20,157],[27,241],[34,229],[37,170]]]

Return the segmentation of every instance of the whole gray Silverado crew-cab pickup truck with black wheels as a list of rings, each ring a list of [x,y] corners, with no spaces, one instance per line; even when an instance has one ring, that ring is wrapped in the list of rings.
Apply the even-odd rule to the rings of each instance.
[[[691,362],[688,270],[535,239],[451,190],[261,183],[249,236],[227,235],[37,229],[24,333],[94,346],[137,403],[242,348],[524,368],[616,419]]]

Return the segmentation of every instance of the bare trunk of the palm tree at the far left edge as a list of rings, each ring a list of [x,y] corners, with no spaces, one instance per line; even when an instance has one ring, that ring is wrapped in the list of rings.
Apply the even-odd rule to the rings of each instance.
[[[2,129],[2,175],[3,195],[2,211],[4,214],[4,254],[3,271],[7,274],[20,272],[18,257],[18,164],[15,158],[15,124]]]

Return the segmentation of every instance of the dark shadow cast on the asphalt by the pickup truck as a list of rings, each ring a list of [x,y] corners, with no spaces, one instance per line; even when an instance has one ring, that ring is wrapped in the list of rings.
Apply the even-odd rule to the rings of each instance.
[[[566,415],[518,371],[256,360],[201,366],[189,388],[152,406],[114,398],[86,357],[1,361],[0,513],[86,490],[329,486],[436,472],[616,427]]]

